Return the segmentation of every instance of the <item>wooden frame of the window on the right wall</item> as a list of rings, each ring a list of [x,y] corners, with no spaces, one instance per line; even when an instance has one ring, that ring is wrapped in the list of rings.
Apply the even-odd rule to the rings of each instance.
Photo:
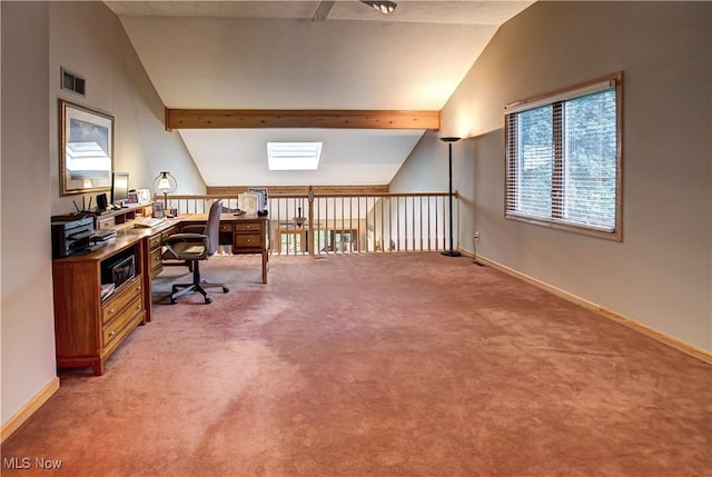
[[[533,110],[542,107],[552,107],[562,108],[565,101],[574,100],[576,98],[582,98],[591,95],[596,91],[596,88],[600,88],[602,83],[607,82],[611,87],[615,88],[615,219],[613,230],[603,230],[601,227],[596,226],[587,226],[585,223],[575,223],[571,221],[566,221],[563,218],[554,217],[554,212],[550,213],[550,217],[543,218],[532,215],[526,215],[525,212],[514,210],[512,205],[513,200],[516,196],[516,188],[514,183],[516,182],[516,177],[513,175],[514,172],[520,171],[520,156],[516,153],[516,147],[511,143],[511,139],[518,138],[518,136],[511,135],[511,127],[515,121],[511,121],[511,115],[517,115],[520,112]],[[605,90],[599,89],[599,90]],[[562,165],[563,156],[562,149],[564,148],[564,142],[566,138],[562,135],[562,126],[561,123],[555,125],[556,121],[553,121],[553,140],[552,140],[552,155],[551,165],[552,165],[552,191],[551,191],[551,202],[552,209],[555,207],[561,207],[562,197],[565,192],[565,186],[562,180]],[[612,74],[606,74],[601,78],[596,78],[591,81],[585,81],[573,87],[560,89],[556,91],[547,92],[544,95],[538,95],[535,97],[526,98],[518,101],[513,101],[507,103],[504,107],[504,216],[506,219],[522,221],[526,223],[537,225],[542,227],[554,228],[558,230],[565,230],[570,232],[599,237],[607,240],[622,241],[622,225],[623,225],[623,72],[619,71]]]

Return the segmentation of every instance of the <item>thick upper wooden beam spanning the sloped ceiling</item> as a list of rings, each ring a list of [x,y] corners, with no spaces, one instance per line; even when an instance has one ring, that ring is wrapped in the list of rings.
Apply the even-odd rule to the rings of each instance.
[[[166,108],[166,130],[169,131],[172,129],[256,128],[438,130],[441,128],[441,112]]]

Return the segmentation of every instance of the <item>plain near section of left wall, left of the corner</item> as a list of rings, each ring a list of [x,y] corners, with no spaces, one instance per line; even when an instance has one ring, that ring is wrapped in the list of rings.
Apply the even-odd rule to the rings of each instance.
[[[55,379],[46,2],[2,2],[2,424]]]

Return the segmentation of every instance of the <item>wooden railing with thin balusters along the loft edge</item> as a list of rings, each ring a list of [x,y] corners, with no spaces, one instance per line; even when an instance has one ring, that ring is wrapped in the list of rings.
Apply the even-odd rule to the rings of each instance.
[[[456,238],[457,192],[453,198]],[[237,197],[220,195],[172,195],[168,207],[180,215],[205,213],[216,199],[222,199],[226,212],[238,210]],[[447,192],[270,195],[269,249],[276,255],[444,250],[449,240],[448,209]]]

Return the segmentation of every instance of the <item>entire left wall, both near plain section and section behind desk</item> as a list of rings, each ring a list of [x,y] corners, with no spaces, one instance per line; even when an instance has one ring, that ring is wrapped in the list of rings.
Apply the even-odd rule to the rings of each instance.
[[[115,116],[115,170],[150,188],[161,170],[180,193],[205,193],[178,132],[121,23],[102,2],[0,2],[2,105],[0,244],[1,417],[56,379],[50,216],[59,196],[58,98]],[[60,89],[60,67],[87,79],[86,98]],[[12,121],[8,121],[12,118]],[[88,200],[88,197],[87,197]]]

